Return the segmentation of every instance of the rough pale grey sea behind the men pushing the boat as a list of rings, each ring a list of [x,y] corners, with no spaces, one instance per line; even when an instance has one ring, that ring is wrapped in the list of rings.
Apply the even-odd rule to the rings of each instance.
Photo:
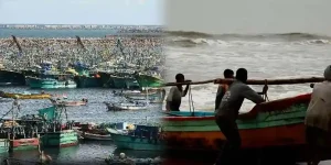
[[[323,35],[306,33],[212,35],[175,31],[169,32],[166,41],[164,79],[168,82],[175,81],[174,77],[179,73],[192,81],[223,78],[223,72],[227,68],[234,72],[246,68],[249,79],[323,77],[324,69],[331,65],[331,37]],[[263,90],[263,86],[252,88],[256,91]],[[214,111],[216,90],[217,85],[214,84],[192,86],[192,99],[184,97],[181,110]],[[309,84],[269,86],[268,97],[269,100],[275,100],[311,91]],[[247,112],[253,107],[254,103],[245,100],[241,112]]]

